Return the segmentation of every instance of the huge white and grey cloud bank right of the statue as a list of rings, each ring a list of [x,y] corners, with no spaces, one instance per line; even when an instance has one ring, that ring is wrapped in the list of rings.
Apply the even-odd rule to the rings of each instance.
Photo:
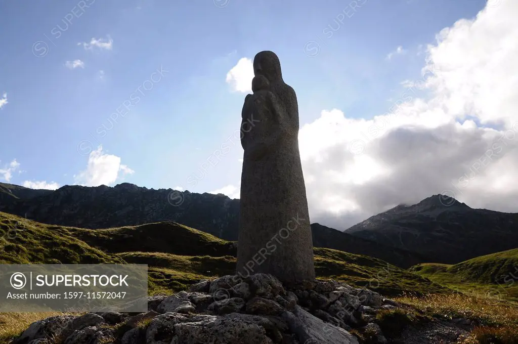
[[[425,76],[406,80],[413,90],[386,113],[365,120],[324,110],[301,126],[312,222],[343,230],[442,192],[473,208],[517,211],[516,16],[518,2],[505,1],[442,30],[426,48]]]

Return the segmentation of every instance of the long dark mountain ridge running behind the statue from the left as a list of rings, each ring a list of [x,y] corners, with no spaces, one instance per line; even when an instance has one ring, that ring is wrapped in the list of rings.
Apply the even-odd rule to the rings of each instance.
[[[12,185],[11,189],[16,190],[16,186]],[[128,183],[113,188],[67,185],[55,191],[45,190],[45,193],[32,190],[34,194],[31,194],[31,189],[25,189],[20,189],[24,190],[23,194],[18,193],[25,198],[12,197],[9,202],[0,204],[0,210],[42,223],[92,229],[174,221],[225,240],[237,240],[239,199],[230,199],[221,194],[153,190]],[[157,230],[162,226],[149,228]],[[425,262],[419,255],[408,251],[379,245],[375,241],[344,234],[320,224],[312,224],[311,228],[315,247],[369,255],[405,268]],[[88,242],[87,237],[82,238]],[[145,236],[141,239],[139,244],[146,245]],[[165,246],[172,245],[171,240],[175,240],[162,239]],[[136,242],[124,241],[120,235],[113,233],[110,233],[110,241],[121,249]]]

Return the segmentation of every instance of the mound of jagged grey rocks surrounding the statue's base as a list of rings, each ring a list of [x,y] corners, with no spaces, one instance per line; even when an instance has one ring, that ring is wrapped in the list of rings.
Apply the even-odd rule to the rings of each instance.
[[[465,319],[430,321],[391,334],[389,341],[376,314],[394,309],[402,307],[376,292],[335,281],[285,288],[270,275],[223,276],[202,280],[189,292],[151,296],[147,313],[37,321],[12,344],[455,343],[470,326]]]

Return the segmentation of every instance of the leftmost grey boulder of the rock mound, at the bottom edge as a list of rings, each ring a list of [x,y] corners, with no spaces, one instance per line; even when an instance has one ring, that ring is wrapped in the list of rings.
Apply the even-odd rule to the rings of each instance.
[[[49,339],[60,337],[62,332],[70,328],[75,317],[57,316],[33,322],[22,334],[12,341],[12,344],[25,344],[35,339]]]

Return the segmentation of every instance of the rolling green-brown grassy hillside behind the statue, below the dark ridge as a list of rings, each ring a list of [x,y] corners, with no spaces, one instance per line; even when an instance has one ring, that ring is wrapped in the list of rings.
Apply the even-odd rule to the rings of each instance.
[[[46,225],[0,212],[0,263],[149,265],[150,293],[179,291],[202,278],[233,274],[236,245],[174,222],[105,230]],[[368,256],[315,248],[319,278],[367,286],[385,295],[446,288]]]

